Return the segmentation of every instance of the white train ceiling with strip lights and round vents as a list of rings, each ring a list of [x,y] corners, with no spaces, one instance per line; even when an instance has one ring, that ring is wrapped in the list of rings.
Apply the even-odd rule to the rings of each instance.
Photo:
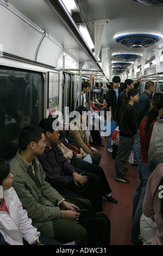
[[[67,0],[69,1],[69,0]],[[155,49],[162,48],[163,15],[162,7],[146,5],[133,0],[75,0],[78,10],[72,11],[72,19],[77,26],[85,25],[97,50],[97,59],[108,62],[134,61],[138,65],[155,59]],[[55,10],[55,2],[49,0],[9,0],[9,3],[20,10],[38,26],[45,29],[64,48],[67,54],[79,62],[86,62],[91,68],[97,68],[77,36],[74,36],[66,21]],[[148,1],[146,1],[148,2]],[[54,4],[52,6],[52,4]],[[103,22],[98,30],[96,25]],[[68,23],[68,22],[67,22]],[[96,30],[97,29],[97,30]],[[120,39],[123,35],[143,36],[134,47],[123,46]],[[118,37],[119,36],[119,37]],[[145,38],[148,36],[148,38]],[[128,41],[130,38],[128,37]],[[124,41],[127,41],[126,39]],[[142,45],[148,41],[149,45]],[[162,45],[161,45],[162,44]],[[100,47],[98,49],[98,47]],[[92,50],[93,52],[94,50]],[[104,54],[106,53],[105,57]],[[93,53],[93,54],[96,54]],[[97,68],[98,69],[98,68]]]

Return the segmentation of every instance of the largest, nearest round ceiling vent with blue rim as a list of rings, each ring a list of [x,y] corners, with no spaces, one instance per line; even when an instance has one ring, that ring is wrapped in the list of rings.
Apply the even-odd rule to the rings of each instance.
[[[149,47],[159,42],[162,35],[149,32],[122,33],[114,36],[114,40],[126,47]]]

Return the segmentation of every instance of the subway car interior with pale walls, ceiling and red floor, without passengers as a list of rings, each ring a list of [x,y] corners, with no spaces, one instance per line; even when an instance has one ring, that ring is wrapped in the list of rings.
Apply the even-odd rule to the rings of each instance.
[[[163,1],[154,0],[0,0],[1,157],[15,156],[24,125],[37,126],[60,111],[67,126],[82,82],[92,74],[91,90],[102,82],[104,95],[114,76],[124,82],[142,75],[140,94],[147,81],[163,92],[162,11]],[[141,245],[130,240],[137,168],[126,165],[130,184],[115,182],[106,141],[103,137],[104,147],[93,147],[102,154],[101,166],[118,200],[103,200],[110,245]]]

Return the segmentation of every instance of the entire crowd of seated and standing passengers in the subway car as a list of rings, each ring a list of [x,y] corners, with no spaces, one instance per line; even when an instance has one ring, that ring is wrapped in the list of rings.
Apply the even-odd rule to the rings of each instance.
[[[103,210],[103,197],[110,203],[118,203],[111,196],[109,181],[100,166],[102,155],[91,147],[87,133],[89,101],[86,93],[93,78],[95,74],[89,82],[82,83],[82,93],[76,100],[79,115],[76,123],[70,123],[68,132],[61,130],[58,116],[49,115],[38,126],[29,125],[21,130],[19,149],[10,164],[0,159],[2,245],[87,245],[87,230],[79,224],[78,211],[83,208],[82,203],[95,212]],[[138,182],[133,197],[130,239],[157,245],[163,244],[163,203],[158,190],[163,184],[160,147],[163,140],[163,93],[154,93],[155,85],[149,81],[139,96],[142,78],[126,80],[121,87],[120,77],[115,76],[112,85],[108,81],[105,101],[103,85],[95,85],[90,102],[94,129],[90,134],[93,143],[104,146],[101,133],[95,129],[95,118],[101,111],[110,111],[120,136],[115,156],[115,181],[123,184],[130,182],[126,179],[128,169],[124,166],[133,143],[133,164],[137,166]],[[93,112],[95,106],[97,115]],[[82,123],[82,120],[85,122]],[[54,123],[57,129],[54,129]],[[110,153],[111,139],[112,134],[108,136],[106,145]],[[73,198],[78,198],[79,203]]]

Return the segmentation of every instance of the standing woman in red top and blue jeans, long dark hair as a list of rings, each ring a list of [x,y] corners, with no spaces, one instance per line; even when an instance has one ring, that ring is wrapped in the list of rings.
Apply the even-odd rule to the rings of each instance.
[[[130,239],[133,242],[140,241],[139,234],[142,205],[146,193],[147,181],[151,175],[151,170],[148,168],[149,142],[151,140],[153,126],[163,114],[163,92],[158,92],[153,95],[151,105],[152,107],[149,109],[147,116],[142,119],[140,124],[141,158],[137,166],[137,188],[133,196],[134,221],[130,235]]]

